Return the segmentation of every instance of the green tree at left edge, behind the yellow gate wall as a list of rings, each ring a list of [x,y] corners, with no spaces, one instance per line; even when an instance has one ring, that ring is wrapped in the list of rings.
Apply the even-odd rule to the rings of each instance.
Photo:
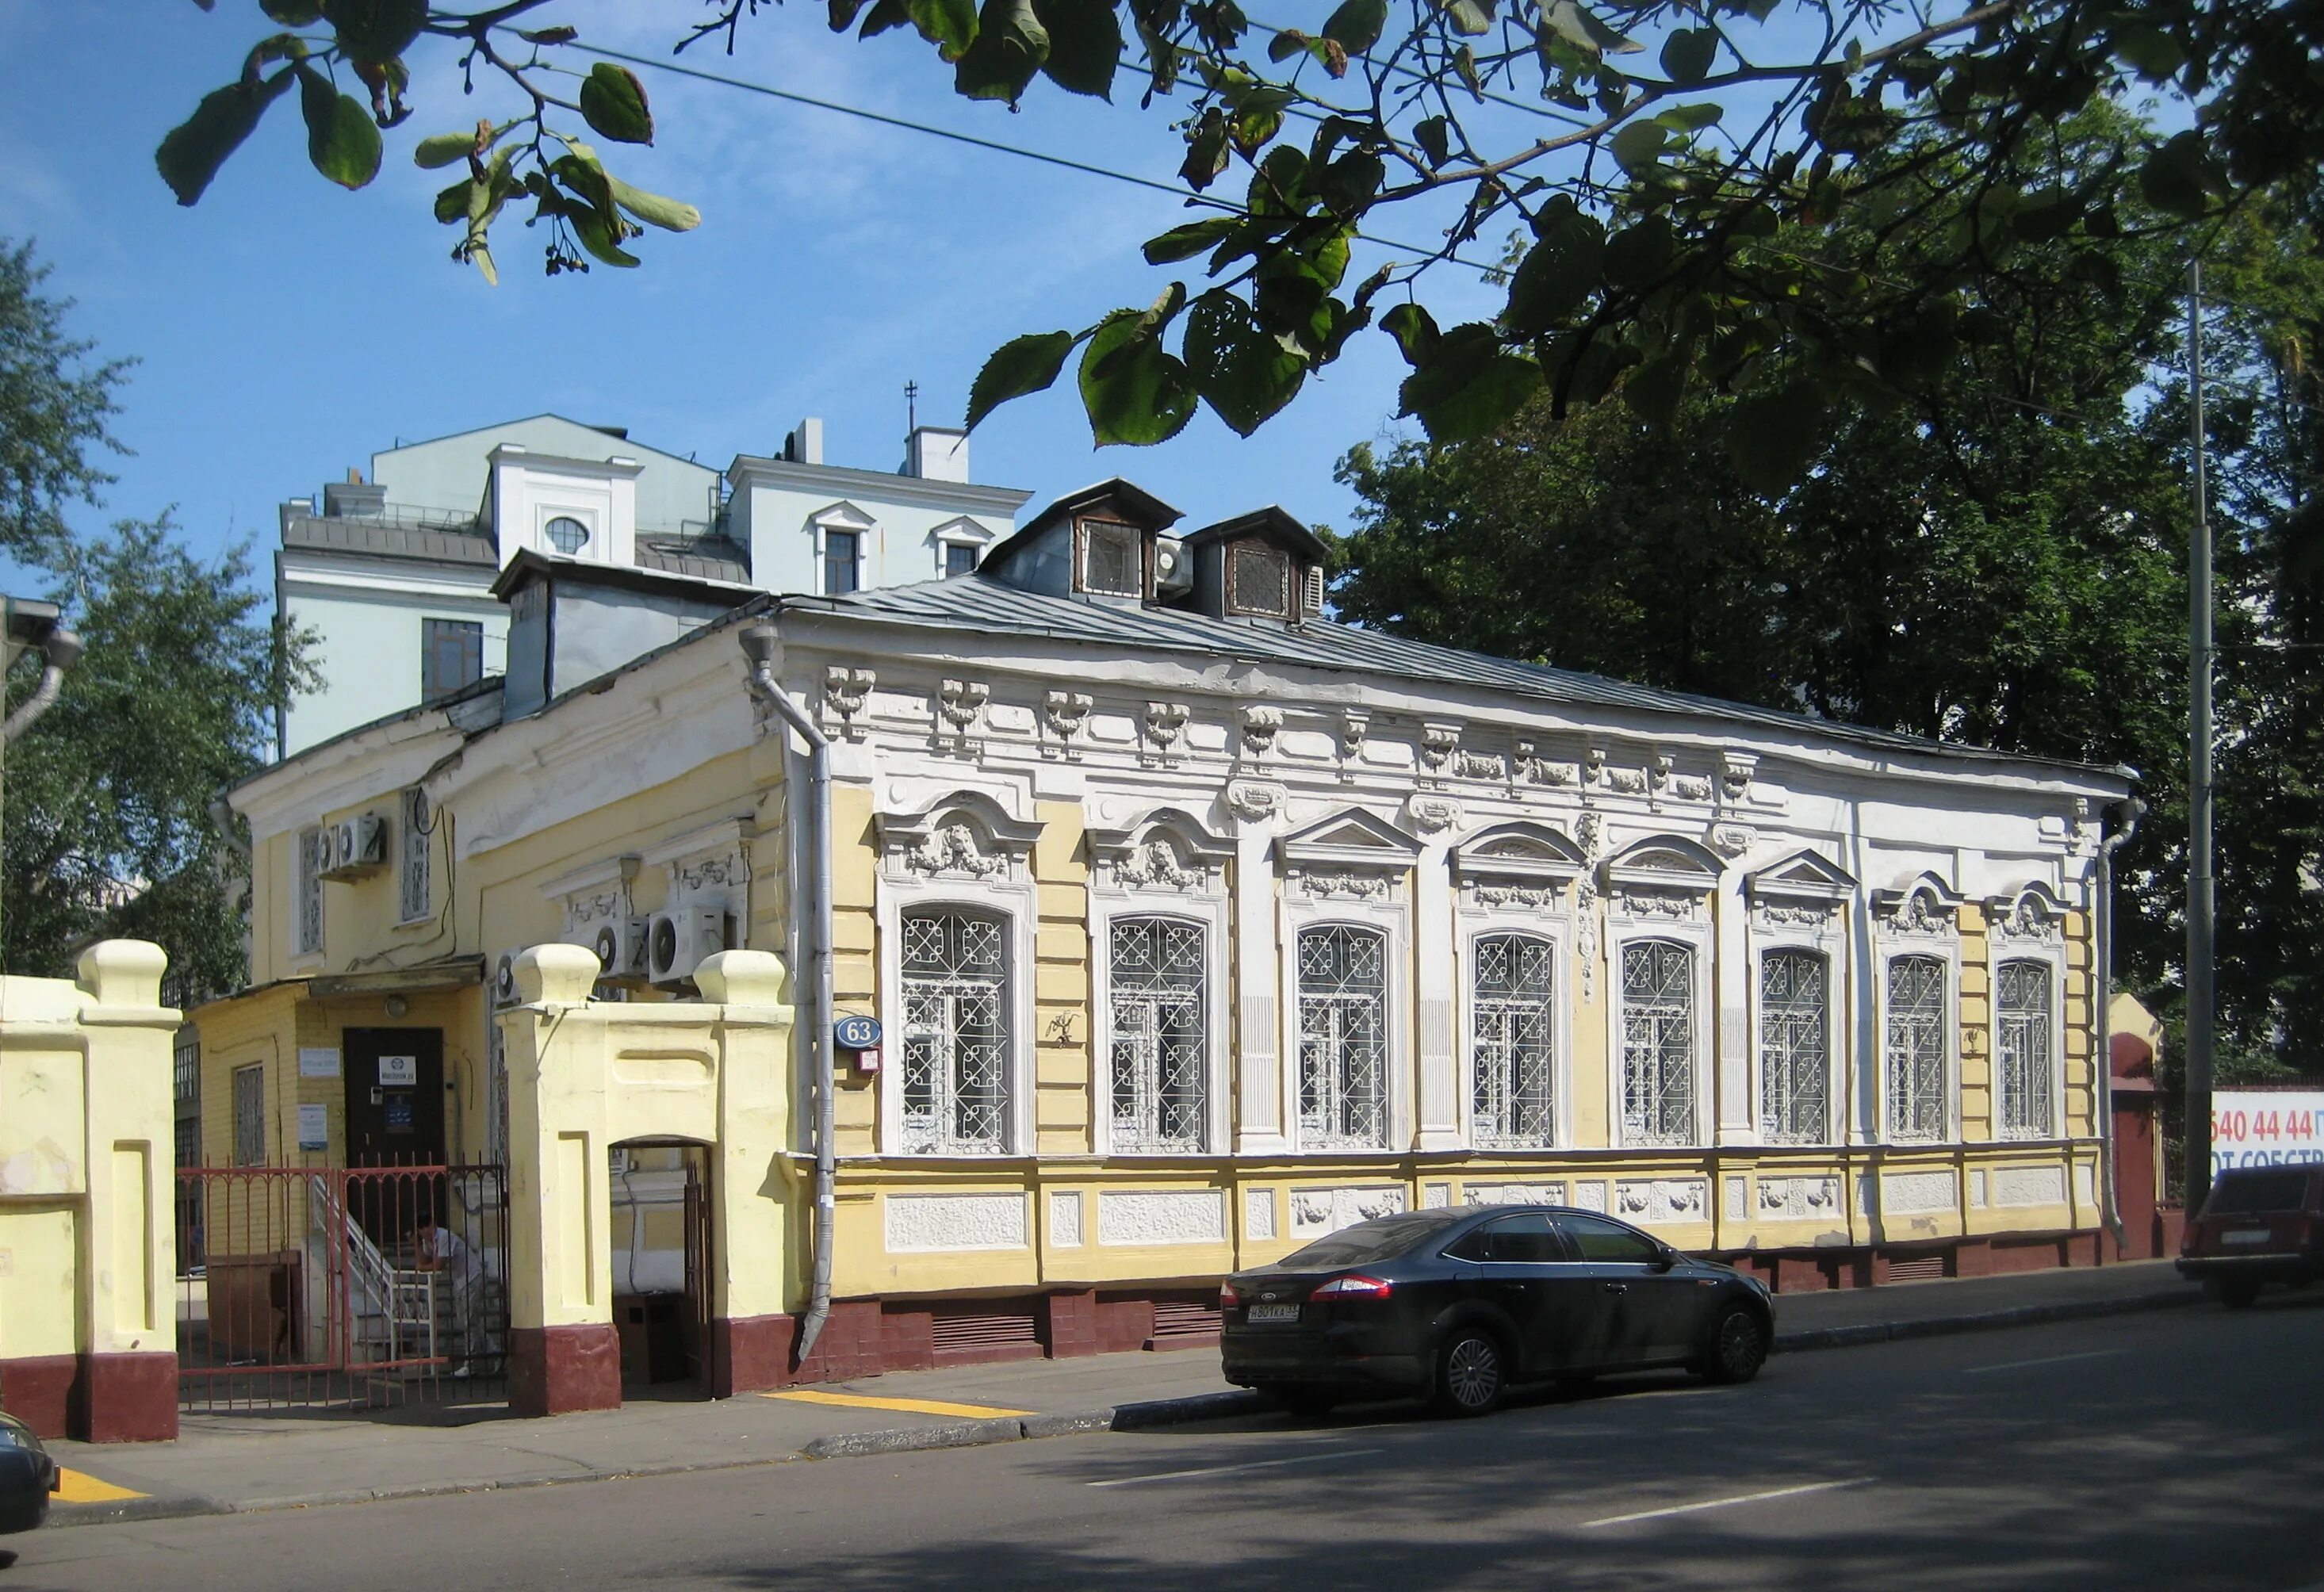
[[[123,365],[84,365],[88,344],[65,337],[40,281],[28,244],[0,246],[5,546],[86,651],[0,767],[0,969],[67,976],[93,939],[153,939],[167,999],[191,1004],[246,974],[249,867],[207,809],[263,762],[304,648],[277,644],[246,546],[205,562],[167,518],[70,535],[65,507],[107,479],[95,458]],[[37,679],[33,653],[0,681],[5,707]]]

